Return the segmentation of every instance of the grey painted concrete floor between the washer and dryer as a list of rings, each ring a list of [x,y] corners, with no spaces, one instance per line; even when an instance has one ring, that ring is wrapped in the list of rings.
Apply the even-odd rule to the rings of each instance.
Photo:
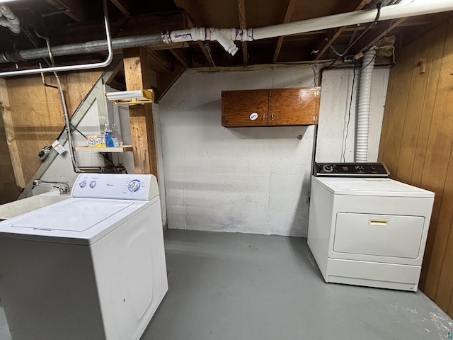
[[[306,239],[170,230],[169,290],[142,340],[447,339],[423,293],[324,283]],[[9,338],[0,307],[0,339]]]

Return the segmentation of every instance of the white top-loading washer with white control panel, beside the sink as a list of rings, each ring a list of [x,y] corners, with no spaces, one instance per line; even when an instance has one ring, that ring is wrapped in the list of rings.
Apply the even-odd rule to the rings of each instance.
[[[152,175],[81,174],[72,197],[0,222],[14,340],[138,340],[168,290]]]

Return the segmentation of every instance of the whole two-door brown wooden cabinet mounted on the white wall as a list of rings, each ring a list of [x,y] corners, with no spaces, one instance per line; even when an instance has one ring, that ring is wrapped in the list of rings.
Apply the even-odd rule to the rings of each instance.
[[[222,91],[222,125],[311,125],[318,123],[321,88]]]

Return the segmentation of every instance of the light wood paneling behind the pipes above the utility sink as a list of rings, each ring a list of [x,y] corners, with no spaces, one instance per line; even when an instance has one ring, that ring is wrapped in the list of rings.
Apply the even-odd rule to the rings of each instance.
[[[69,115],[74,113],[101,71],[60,74]],[[56,85],[55,77],[46,75],[47,84]],[[11,156],[21,168],[25,184],[32,179],[40,166],[38,153],[51,145],[64,128],[64,118],[59,92],[42,84],[40,75],[6,79],[14,142],[18,154]],[[4,174],[0,174],[2,177]]]

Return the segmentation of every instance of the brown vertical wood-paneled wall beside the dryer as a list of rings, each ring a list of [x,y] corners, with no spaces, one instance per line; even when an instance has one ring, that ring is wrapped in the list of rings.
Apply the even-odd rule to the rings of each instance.
[[[391,70],[379,161],[435,192],[420,289],[453,317],[453,19],[401,48]]]

